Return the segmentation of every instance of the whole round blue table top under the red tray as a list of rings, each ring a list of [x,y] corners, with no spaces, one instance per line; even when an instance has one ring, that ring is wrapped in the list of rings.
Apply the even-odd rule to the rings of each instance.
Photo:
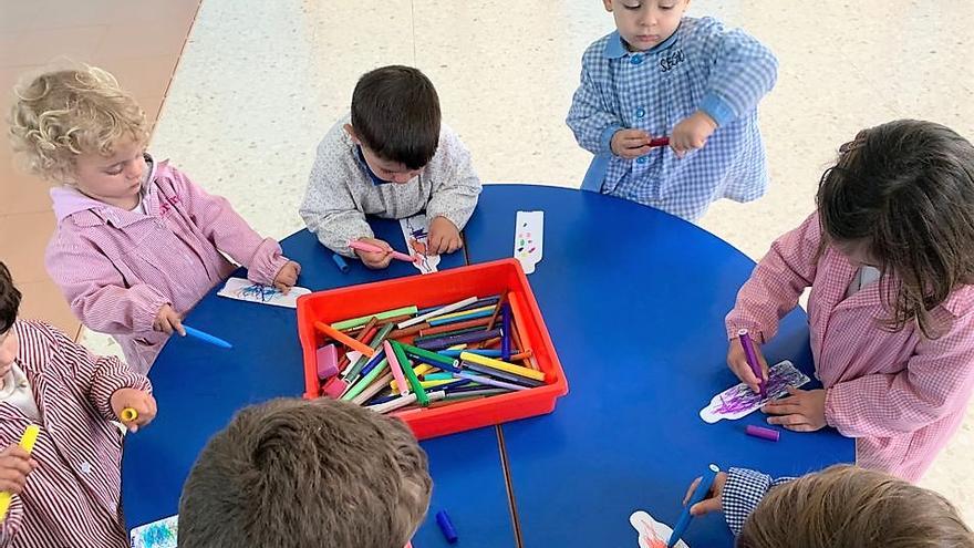
[[[706,464],[796,475],[854,459],[852,441],[825,430],[744,435],[744,420],[705,424],[697,415],[735,383],[725,365],[723,318],[754,263],[694,225],[592,193],[488,185],[465,229],[464,252],[439,268],[510,257],[518,210],[545,211],[545,258],[529,281],[555,341],[570,392],[555,413],[423,442],[434,478],[431,513],[414,546],[448,546],[433,515],[446,509],[468,547],[636,546],[629,515],[645,509],[667,524]],[[398,224],[371,220],[398,242]],[[415,275],[359,263],[342,275],[307,230],[287,238],[312,290]],[[237,276],[241,276],[238,272]],[[218,289],[218,288],[217,288]],[[230,351],[173,339],[149,378],[159,415],[126,441],[123,500],[128,528],[176,514],[196,455],[239,409],[303,392],[291,309],[216,297],[186,323],[234,343]],[[796,310],[765,348],[811,376],[808,329]],[[811,386],[815,386],[812,384]],[[719,516],[697,518],[691,546],[733,546]]]

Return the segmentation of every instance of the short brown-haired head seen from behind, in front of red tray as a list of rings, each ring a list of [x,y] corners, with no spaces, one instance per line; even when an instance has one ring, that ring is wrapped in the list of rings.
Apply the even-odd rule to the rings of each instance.
[[[350,402],[280,399],[207,443],[179,502],[180,548],[397,548],[429,504],[426,454]]]

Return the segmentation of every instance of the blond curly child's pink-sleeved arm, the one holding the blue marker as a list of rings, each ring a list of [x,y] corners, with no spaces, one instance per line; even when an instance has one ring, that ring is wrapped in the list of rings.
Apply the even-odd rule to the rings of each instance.
[[[152,332],[159,310],[172,302],[147,283],[126,288],[111,259],[83,238],[69,241],[59,236],[44,261],[74,314],[102,333]]]

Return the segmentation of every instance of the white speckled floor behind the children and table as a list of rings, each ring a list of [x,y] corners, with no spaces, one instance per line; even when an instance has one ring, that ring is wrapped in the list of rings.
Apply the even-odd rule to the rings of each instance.
[[[744,27],[780,61],[761,104],[771,189],[702,220],[755,259],[812,210],[822,168],[858,130],[918,117],[974,138],[971,0],[696,0],[691,14]],[[485,180],[577,187],[590,157],[563,120],[582,51],[612,25],[600,0],[205,0],[152,149],[287,236],[355,80],[404,63],[436,84]],[[972,415],[923,485],[974,524]]]

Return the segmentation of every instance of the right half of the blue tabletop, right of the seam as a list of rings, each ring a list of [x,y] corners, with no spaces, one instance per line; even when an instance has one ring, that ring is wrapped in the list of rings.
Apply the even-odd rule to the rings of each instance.
[[[545,211],[545,256],[528,279],[569,382],[555,413],[501,426],[525,546],[636,546],[630,514],[673,525],[708,463],[796,475],[854,459],[832,430],[771,443],[744,435],[760,413],[700,418],[737,382],[723,320],[754,268],[747,257],[631,201],[496,185],[465,229],[470,262],[511,256],[518,210]],[[788,316],[765,352],[811,376],[805,318]],[[733,546],[721,516],[695,519],[684,538]]]

